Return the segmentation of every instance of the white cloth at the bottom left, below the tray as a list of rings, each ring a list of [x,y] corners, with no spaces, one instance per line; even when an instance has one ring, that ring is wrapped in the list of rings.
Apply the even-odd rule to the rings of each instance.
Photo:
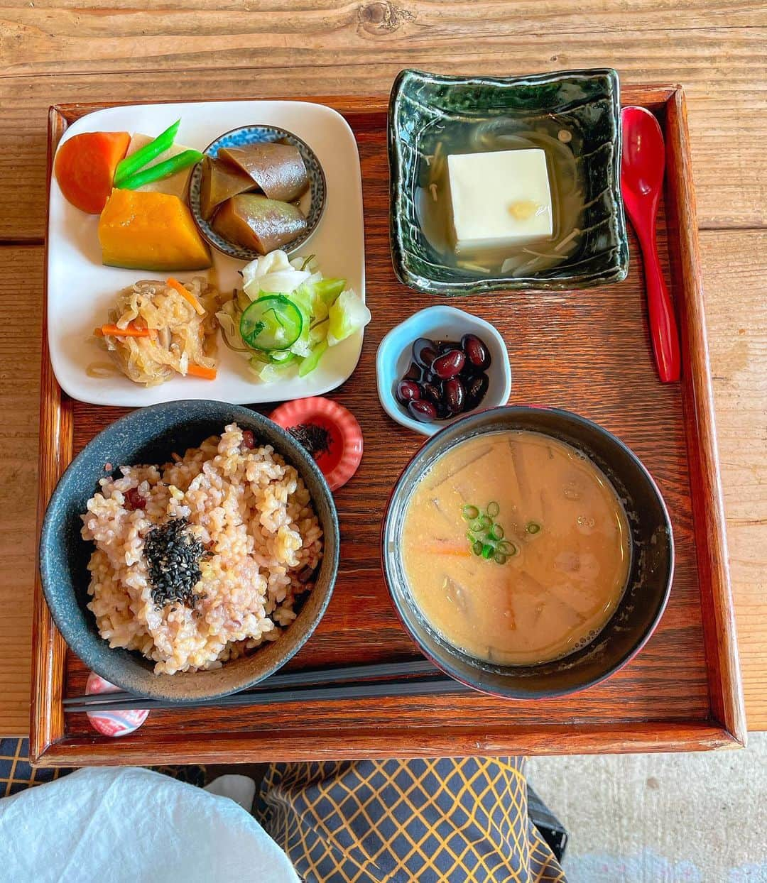
[[[247,797],[246,797],[247,799]],[[297,883],[229,797],[151,770],[83,769],[0,800],[0,879],[14,883]]]

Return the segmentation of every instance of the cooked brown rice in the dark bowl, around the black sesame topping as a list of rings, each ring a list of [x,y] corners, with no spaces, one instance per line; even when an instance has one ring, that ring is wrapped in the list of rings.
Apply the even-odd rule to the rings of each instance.
[[[87,502],[82,535],[96,548],[88,593],[102,638],[139,650],[155,672],[216,668],[295,619],[301,582],[323,554],[322,530],[295,469],[269,445],[247,449],[236,423],[163,466],[121,466]],[[131,509],[136,488],[146,502]],[[186,517],[209,555],[194,608],[156,606],[143,555],[155,525]]]

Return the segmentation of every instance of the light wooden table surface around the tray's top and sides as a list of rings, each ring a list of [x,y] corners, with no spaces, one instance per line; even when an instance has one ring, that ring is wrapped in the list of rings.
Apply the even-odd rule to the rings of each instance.
[[[0,735],[27,732],[47,109],[385,93],[611,65],[687,91],[748,726],[767,728],[767,7],[749,0],[0,0]],[[72,280],[76,285],[77,280]]]

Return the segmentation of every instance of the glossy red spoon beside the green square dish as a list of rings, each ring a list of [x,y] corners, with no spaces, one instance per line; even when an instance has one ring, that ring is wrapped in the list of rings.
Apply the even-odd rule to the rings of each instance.
[[[649,336],[664,383],[680,379],[680,336],[657,253],[657,203],[663,188],[665,151],[657,119],[644,108],[624,108],[620,185],[623,202],[642,246]]]

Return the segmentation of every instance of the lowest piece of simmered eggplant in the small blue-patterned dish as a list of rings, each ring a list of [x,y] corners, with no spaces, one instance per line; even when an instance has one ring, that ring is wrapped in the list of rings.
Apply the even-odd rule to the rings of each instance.
[[[229,242],[266,254],[300,236],[307,229],[307,219],[289,202],[269,200],[260,193],[239,193],[218,209],[213,229]]]

